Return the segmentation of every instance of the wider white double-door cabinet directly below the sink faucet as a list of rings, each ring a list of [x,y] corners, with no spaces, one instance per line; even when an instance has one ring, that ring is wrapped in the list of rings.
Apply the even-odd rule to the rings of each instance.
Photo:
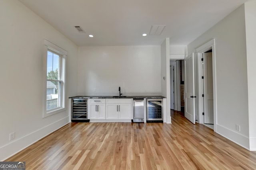
[[[131,99],[106,99],[106,119],[131,120]]]

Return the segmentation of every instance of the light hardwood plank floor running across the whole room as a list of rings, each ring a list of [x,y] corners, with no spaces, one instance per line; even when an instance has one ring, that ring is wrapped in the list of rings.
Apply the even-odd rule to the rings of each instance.
[[[69,123],[6,161],[26,170],[256,169],[256,152],[171,115],[172,124]]]

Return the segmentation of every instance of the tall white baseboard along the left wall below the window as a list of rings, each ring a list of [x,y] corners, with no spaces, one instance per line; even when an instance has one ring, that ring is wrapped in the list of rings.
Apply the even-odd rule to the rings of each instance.
[[[54,123],[51,123],[50,125],[42,127],[41,129],[38,129],[24,137],[16,139],[12,143],[8,143],[7,145],[0,147],[0,153],[1,153],[0,160],[4,161],[7,158],[10,158],[14,154],[16,154],[16,153],[20,152],[21,150],[25,149],[26,147],[32,145],[36,141],[42,139],[43,137],[49,135],[50,133],[52,133],[54,131],[56,131],[60,127],[68,124],[69,119],[70,119],[69,116],[64,117],[63,119],[60,119]]]

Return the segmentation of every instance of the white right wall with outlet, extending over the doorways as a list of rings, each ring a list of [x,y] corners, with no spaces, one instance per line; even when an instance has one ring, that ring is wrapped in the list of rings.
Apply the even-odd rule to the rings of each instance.
[[[188,45],[188,54],[215,38],[216,132],[249,148],[244,5]],[[236,130],[240,125],[240,131]]]

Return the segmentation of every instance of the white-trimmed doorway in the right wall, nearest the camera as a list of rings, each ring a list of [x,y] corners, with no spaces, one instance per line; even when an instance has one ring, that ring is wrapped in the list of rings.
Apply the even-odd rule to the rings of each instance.
[[[210,57],[208,58],[208,56],[206,57],[206,59],[204,59],[204,55],[208,55],[206,52],[210,52],[210,50],[212,50],[212,54],[211,57],[212,59],[210,59]],[[213,130],[216,131],[216,117],[217,117],[217,105],[216,105],[216,62],[215,62],[215,39],[212,39],[211,41],[209,41],[208,43],[205,43],[204,45],[202,45],[201,47],[198,47],[196,49],[196,59],[197,59],[197,75],[198,75],[198,84],[197,84],[197,89],[198,89],[198,118],[199,118],[199,123],[204,124],[204,125],[210,125],[211,128],[213,127]],[[207,59],[209,59],[208,61],[206,61]],[[204,64],[203,64],[204,62]],[[207,62],[207,64],[206,64]],[[207,66],[209,66],[209,72],[205,72]],[[210,68],[210,66],[212,66]],[[208,69],[207,69],[208,70]],[[207,76],[208,74],[212,75],[212,79],[208,79],[206,78],[204,81],[204,76]],[[202,77],[202,78],[201,78]],[[206,85],[207,84],[207,85]],[[211,86],[212,85],[212,86]],[[210,86],[210,87],[209,87]],[[206,90],[206,88],[208,89],[212,89]],[[210,92],[211,91],[211,92]],[[209,94],[208,97],[204,97],[206,95],[206,93]],[[209,101],[208,101],[209,99]],[[208,104],[208,108],[205,108],[207,106],[205,106],[205,104]],[[207,114],[206,112],[210,112],[209,116],[205,116],[205,114]],[[213,115],[213,123],[212,123],[212,115]],[[207,119],[206,119],[207,118]],[[209,119],[208,119],[209,118]],[[209,124],[205,124],[209,123]],[[212,125],[213,124],[213,125]]]

